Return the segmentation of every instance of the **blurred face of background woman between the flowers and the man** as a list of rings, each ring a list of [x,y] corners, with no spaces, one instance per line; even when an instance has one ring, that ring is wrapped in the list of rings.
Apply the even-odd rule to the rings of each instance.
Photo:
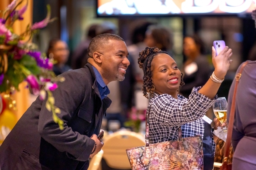
[[[67,62],[69,57],[69,49],[66,42],[56,42],[51,52],[53,53],[54,60],[57,60],[58,63],[65,64]]]

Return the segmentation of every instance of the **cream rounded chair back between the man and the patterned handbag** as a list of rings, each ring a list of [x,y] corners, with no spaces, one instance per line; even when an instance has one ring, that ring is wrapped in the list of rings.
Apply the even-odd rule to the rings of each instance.
[[[110,168],[131,169],[126,149],[145,145],[145,138],[135,132],[121,130],[104,139],[103,159]]]

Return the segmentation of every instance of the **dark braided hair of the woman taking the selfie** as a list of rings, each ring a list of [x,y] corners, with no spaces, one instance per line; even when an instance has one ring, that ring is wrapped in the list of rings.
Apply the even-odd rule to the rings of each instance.
[[[142,91],[143,91],[143,95],[147,98],[148,98],[147,92],[153,95],[154,89],[155,89],[152,82],[151,62],[153,58],[160,53],[168,54],[165,51],[161,51],[157,47],[153,47],[153,48],[147,47],[145,48],[145,50],[139,53],[138,64],[139,64],[139,68],[143,69],[143,73],[144,73]],[[183,85],[183,84],[184,82],[183,80],[181,80],[180,85]]]

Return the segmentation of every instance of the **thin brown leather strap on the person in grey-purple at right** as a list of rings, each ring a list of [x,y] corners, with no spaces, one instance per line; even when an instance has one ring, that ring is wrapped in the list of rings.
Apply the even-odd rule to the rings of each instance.
[[[230,116],[229,116],[229,121],[228,121],[228,135],[227,135],[227,139],[226,139],[226,146],[225,146],[224,159],[223,159],[223,163],[225,162],[225,164],[227,164],[227,162],[228,162],[229,149],[230,149],[230,145],[231,145],[231,137],[232,137],[235,110],[236,110],[237,86],[238,86],[239,80],[241,78],[243,69],[245,68],[246,64],[248,64],[248,62],[249,61],[246,61],[245,63],[243,63],[243,65],[241,66],[239,72],[236,74],[236,77],[235,77],[236,84],[234,87],[234,93],[233,93],[233,97],[232,97],[232,104],[231,104]]]

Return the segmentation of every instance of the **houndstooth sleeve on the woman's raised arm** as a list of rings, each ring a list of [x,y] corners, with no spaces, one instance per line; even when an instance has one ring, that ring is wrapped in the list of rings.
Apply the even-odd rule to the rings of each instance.
[[[203,117],[217,96],[211,100],[198,93],[200,88],[193,88],[189,99],[184,100],[174,99],[168,94],[159,95],[152,107],[156,121],[167,126],[180,126]]]

